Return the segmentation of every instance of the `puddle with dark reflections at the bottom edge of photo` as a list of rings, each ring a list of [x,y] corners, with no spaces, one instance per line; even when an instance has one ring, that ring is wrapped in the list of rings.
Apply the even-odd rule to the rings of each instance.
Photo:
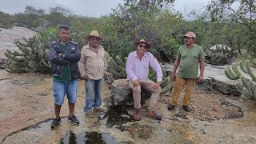
[[[62,144],[115,144],[118,143],[114,137],[110,134],[99,134],[97,132],[86,132],[80,134],[74,134],[69,132],[66,137],[61,138]]]

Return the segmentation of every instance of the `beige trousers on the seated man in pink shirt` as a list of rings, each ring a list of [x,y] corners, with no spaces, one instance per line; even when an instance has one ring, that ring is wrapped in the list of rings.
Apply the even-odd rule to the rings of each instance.
[[[138,79],[140,86],[134,88],[133,82],[129,80],[128,85],[133,90],[133,97],[134,97],[134,107],[136,109],[140,109],[141,106],[141,92],[142,88],[146,90],[150,90],[152,92],[150,97],[150,105],[148,106],[148,110],[154,110],[154,107],[158,103],[158,98],[160,94],[161,87],[159,86],[157,90],[154,90],[153,86],[155,82],[151,81],[150,79]]]

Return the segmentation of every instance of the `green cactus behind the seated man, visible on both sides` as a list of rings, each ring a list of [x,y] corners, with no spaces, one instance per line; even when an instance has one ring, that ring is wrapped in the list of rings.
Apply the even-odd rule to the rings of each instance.
[[[124,61],[117,55],[115,58],[110,57],[110,54],[106,53],[106,59],[107,59],[107,65],[108,65],[108,83],[113,83],[114,79],[121,79],[126,78],[126,58]],[[161,65],[162,66],[162,65]],[[170,78],[168,75],[163,73],[163,80],[160,85],[162,88],[160,94],[166,94],[167,92],[170,92],[173,88],[173,85],[170,84]],[[150,75],[149,78],[156,81],[156,73],[154,70],[150,69]]]

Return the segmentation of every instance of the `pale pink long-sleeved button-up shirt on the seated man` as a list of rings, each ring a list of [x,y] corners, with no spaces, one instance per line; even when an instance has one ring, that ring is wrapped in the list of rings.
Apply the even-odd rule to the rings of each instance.
[[[154,58],[153,54],[146,51],[142,60],[138,58],[137,51],[129,54],[126,63],[127,78],[133,82],[136,79],[147,79],[149,76],[149,66],[156,71],[157,81],[162,81],[162,70],[158,61]]]

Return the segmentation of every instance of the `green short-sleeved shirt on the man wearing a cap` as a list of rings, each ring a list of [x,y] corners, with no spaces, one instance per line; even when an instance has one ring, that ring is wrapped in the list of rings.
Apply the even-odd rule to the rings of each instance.
[[[179,59],[178,76],[182,78],[198,78],[198,64],[205,58],[201,46],[194,45],[188,48],[186,45],[178,49],[177,58]]]

